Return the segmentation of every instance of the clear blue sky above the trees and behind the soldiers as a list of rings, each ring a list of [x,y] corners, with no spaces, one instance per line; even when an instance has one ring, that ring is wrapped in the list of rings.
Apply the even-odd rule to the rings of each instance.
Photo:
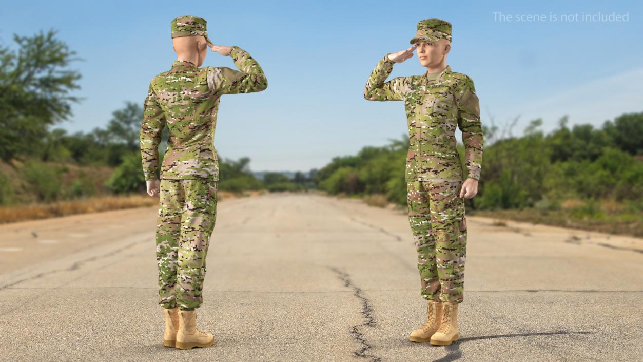
[[[0,44],[13,47],[13,33],[58,30],[58,39],[84,59],[71,68],[83,76],[75,95],[86,97],[59,127],[89,132],[104,127],[126,101],[142,105],[152,77],[176,60],[170,21],[204,17],[215,44],[239,46],[266,71],[266,91],[222,96],[215,136],[222,158],[248,156],[255,171],[323,167],[334,156],[404,134],[403,103],[369,102],[363,87],[377,61],[408,48],[417,21],[433,17],[453,24],[448,64],[473,78],[484,124],[493,119],[502,128],[519,116],[513,129],[519,135],[536,118],[547,132],[563,115],[570,125],[600,127],[643,111],[640,2],[184,3],[14,2],[0,13]],[[598,21],[599,12],[627,18]],[[234,68],[230,57],[212,52],[203,66]],[[424,71],[414,56],[396,64],[390,78]]]

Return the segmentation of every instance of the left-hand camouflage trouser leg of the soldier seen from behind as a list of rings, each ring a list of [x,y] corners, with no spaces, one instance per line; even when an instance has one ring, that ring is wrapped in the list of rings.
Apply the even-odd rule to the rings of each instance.
[[[183,185],[181,180],[161,179],[156,226],[156,262],[159,269],[159,304],[176,307],[178,243],[181,238]]]

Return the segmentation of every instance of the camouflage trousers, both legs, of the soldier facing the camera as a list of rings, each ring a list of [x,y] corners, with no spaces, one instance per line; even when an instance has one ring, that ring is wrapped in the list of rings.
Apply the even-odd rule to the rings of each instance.
[[[417,247],[421,295],[462,303],[467,221],[462,181],[407,182],[408,217]]]

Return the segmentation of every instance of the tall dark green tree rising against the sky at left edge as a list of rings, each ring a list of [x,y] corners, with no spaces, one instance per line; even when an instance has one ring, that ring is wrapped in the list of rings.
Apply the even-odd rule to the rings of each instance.
[[[20,37],[14,34],[17,51],[0,48],[0,159],[10,161],[33,154],[48,125],[71,116],[69,96],[79,89],[80,73],[65,69],[75,55],[54,38],[54,30]]]

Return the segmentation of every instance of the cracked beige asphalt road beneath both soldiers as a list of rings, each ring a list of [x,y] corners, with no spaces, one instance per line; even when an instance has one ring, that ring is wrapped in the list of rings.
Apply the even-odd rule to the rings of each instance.
[[[156,208],[0,226],[0,361],[641,361],[643,239],[467,217],[460,341],[426,320],[403,212],[321,195],[219,203],[197,326],[163,347]],[[638,357],[637,357],[638,356]]]

